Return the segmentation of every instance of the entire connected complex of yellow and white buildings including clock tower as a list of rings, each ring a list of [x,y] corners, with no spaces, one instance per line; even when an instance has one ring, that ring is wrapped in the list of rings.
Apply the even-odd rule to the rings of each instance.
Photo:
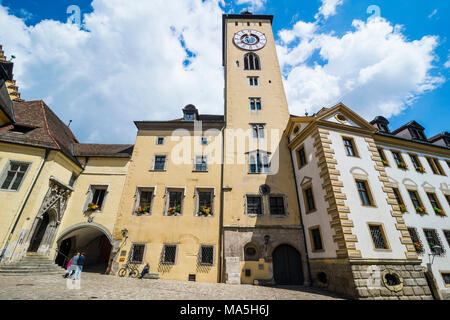
[[[449,134],[341,103],[290,115],[272,20],[223,16],[223,115],[135,121],[134,145],[80,143],[0,49],[2,263],[82,250],[110,274],[448,297]]]

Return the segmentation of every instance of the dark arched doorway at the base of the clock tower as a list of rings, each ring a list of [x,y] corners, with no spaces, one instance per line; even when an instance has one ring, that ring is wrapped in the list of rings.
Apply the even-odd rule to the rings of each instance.
[[[273,276],[279,285],[303,284],[303,270],[300,253],[289,246],[278,246],[273,254]]]

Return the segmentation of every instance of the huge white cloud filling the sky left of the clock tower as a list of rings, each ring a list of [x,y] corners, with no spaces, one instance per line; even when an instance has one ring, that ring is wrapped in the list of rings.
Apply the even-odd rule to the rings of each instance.
[[[130,143],[133,120],[179,118],[188,103],[223,114],[220,4],[95,0],[83,30],[27,27],[0,6],[0,43],[23,98],[46,97],[84,142]]]

